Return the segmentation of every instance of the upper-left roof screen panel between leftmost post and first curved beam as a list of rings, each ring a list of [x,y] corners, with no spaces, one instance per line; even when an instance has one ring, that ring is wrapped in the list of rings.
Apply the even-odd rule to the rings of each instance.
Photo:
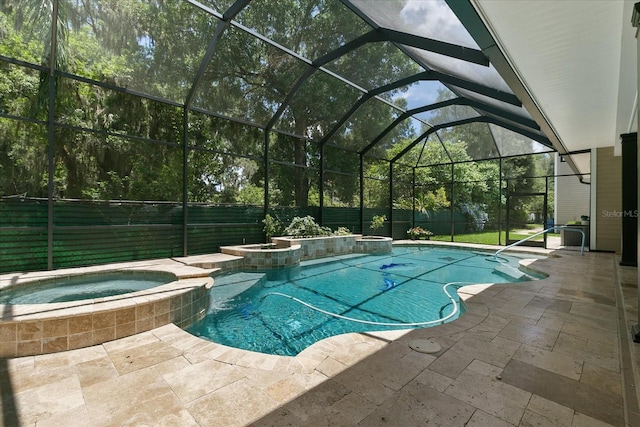
[[[74,58],[67,71],[175,102],[184,102],[217,25],[181,0],[60,6],[74,33],[62,42]]]

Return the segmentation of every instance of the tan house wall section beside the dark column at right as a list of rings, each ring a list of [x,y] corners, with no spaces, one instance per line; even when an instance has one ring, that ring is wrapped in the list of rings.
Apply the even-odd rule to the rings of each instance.
[[[622,157],[613,147],[596,150],[596,239],[594,249],[620,253],[622,245]],[[593,184],[592,184],[593,185]]]

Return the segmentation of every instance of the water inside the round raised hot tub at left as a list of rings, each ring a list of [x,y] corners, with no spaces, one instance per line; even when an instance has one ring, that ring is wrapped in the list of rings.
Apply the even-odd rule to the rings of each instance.
[[[109,272],[48,279],[0,289],[0,304],[46,304],[102,298],[160,286],[172,274]]]

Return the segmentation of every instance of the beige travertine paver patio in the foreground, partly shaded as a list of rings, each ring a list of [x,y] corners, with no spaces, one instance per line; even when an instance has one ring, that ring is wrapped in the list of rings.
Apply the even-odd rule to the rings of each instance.
[[[640,425],[638,344],[619,333],[637,320],[635,269],[620,273],[613,254],[554,254],[531,264],[547,279],[460,290],[467,312],[455,322],[343,335],[297,357],[167,325],[3,359],[3,425]],[[418,338],[442,350],[416,352]]]

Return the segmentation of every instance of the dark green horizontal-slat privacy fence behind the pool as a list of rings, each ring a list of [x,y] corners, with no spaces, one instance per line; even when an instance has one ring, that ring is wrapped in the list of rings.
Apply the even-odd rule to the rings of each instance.
[[[277,207],[270,214],[283,223],[294,216],[319,217],[319,207]],[[323,224],[333,230],[373,234],[374,215],[393,216],[375,234],[407,237],[420,225],[436,235],[465,233],[467,217],[451,209],[429,215],[394,209],[365,209],[364,230],[358,208],[323,208]],[[220,246],[265,241],[262,206],[188,204],[149,201],[0,200],[0,272],[104,264],[118,261],[215,253]],[[186,218],[186,221],[185,221]],[[186,224],[186,226],[185,226]]]

